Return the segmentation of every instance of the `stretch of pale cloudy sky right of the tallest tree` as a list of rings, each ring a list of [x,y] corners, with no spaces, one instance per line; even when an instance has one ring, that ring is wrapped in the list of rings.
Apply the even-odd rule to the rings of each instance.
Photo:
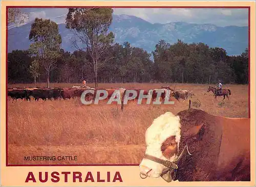
[[[221,8],[141,8],[114,9],[114,14],[127,14],[144,18],[151,23],[168,23],[184,21],[188,23],[210,23],[217,26],[248,26],[248,9]]]

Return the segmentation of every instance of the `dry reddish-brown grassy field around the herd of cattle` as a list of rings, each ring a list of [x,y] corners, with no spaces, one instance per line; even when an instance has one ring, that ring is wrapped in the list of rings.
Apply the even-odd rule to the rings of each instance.
[[[71,87],[79,84],[51,84]],[[174,84],[99,84],[99,88],[153,89]],[[24,87],[33,85],[8,85]],[[45,87],[46,84],[37,85]],[[93,87],[93,84],[88,84]],[[208,85],[177,84],[176,90],[195,94],[192,108],[224,117],[248,117],[248,85],[224,85],[230,100],[214,99]],[[206,94],[206,95],[205,95]],[[189,97],[190,99],[190,97]],[[188,101],[175,105],[83,105],[79,98],[56,101],[12,101],[8,98],[9,164],[139,164],[144,153],[144,133],[153,120],[170,111],[188,109]],[[75,156],[78,161],[25,161],[25,156]]]

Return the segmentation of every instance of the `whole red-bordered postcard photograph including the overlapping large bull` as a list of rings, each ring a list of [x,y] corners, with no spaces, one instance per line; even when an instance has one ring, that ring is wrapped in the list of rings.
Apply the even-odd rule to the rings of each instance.
[[[250,181],[249,7],[8,7],[7,166]]]

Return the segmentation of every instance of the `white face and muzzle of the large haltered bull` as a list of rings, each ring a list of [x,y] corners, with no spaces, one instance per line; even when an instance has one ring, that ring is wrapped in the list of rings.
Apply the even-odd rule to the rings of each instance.
[[[180,118],[167,112],[153,121],[145,133],[145,154],[170,162],[177,158],[180,142]],[[148,177],[160,177],[166,167],[162,164],[143,158],[140,172]]]

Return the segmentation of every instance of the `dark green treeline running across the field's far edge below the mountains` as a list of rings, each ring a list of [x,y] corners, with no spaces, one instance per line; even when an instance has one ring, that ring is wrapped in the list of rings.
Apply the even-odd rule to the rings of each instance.
[[[28,50],[8,54],[8,83],[33,83],[31,57]],[[204,43],[187,44],[178,40],[170,45],[161,40],[152,54],[129,42],[115,43],[104,51],[98,64],[100,83],[224,83],[248,84],[248,49],[240,56],[227,56],[223,48],[210,48]],[[94,68],[87,51],[73,53],[60,49],[49,81],[94,83]],[[47,82],[44,66],[39,67],[37,82]]]

